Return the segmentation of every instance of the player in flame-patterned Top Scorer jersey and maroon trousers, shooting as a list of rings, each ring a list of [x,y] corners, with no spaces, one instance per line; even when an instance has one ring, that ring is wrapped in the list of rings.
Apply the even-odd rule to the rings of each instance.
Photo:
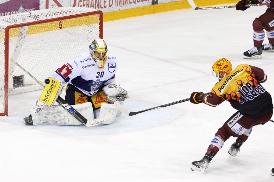
[[[212,73],[219,82],[215,84],[210,94],[193,92],[190,102],[193,104],[203,102],[216,107],[228,100],[238,111],[218,129],[203,159],[192,162],[192,171],[203,172],[207,169],[211,159],[230,136],[237,138],[228,150],[230,157],[235,157],[240,146],[248,139],[252,127],[265,124],[273,114],[271,95],[261,86],[261,83],[266,82],[267,79],[264,70],[247,64],[240,64],[232,70],[230,61],[222,58],[213,64]]]

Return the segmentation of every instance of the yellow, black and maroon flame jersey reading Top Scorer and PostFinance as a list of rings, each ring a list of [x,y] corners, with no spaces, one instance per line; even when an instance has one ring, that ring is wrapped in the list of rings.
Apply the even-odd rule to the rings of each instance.
[[[234,109],[250,118],[257,118],[273,109],[271,95],[261,86],[267,76],[261,68],[240,64],[215,84],[202,101],[216,107],[228,100]]]

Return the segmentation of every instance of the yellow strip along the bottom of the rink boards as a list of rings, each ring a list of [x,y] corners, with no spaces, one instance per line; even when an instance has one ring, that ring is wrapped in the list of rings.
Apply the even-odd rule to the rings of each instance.
[[[198,7],[205,7],[205,6],[216,6],[218,4],[236,4],[239,0],[194,0],[194,3]],[[113,20],[119,20],[124,18],[132,18],[137,16],[143,16],[148,14],[154,14],[154,13],[163,13],[168,11],[174,11],[174,10],[180,10],[180,9],[187,9],[191,8],[190,4],[185,1],[178,1],[178,2],[172,2],[172,3],[162,3],[162,4],[155,4],[140,8],[132,8],[132,9],[126,9],[121,11],[114,11],[109,13],[104,13],[103,19],[104,22],[113,21]],[[98,15],[90,15],[88,16],[90,19],[94,19],[93,23],[99,23]],[[182,17],[183,18],[183,17]],[[61,25],[62,24],[62,25]],[[62,20],[53,22],[50,26],[49,23],[42,23],[38,25],[31,25],[29,27],[29,31],[27,32],[27,35],[29,34],[36,34],[36,33],[43,33],[53,30],[58,30],[62,26],[62,28],[70,28],[75,27],[79,25],[87,25],[89,24],[87,21],[83,20],[82,17],[79,18],[73,18],[69,20]],[[32,28],[36,29],[36,32],[31,32],[30,30]],[[16,37],[19,34],[20,28],[13,28],[10,30],[9,37]]]

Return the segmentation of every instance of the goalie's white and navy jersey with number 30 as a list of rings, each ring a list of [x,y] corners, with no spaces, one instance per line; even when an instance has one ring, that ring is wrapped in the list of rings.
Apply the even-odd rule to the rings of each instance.
[[[94,95],[103,85],[115,81],[118,62],[115,56],[107,53],[102,67],[98,67],[90,53],[80,54],[69,63],[58,68],[52,77],[70,83],[83,94]]]

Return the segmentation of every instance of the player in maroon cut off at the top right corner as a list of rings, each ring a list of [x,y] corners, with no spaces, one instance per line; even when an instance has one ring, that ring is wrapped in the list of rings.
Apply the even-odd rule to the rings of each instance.
[[[241,0],[236,4],[236,9],[244,11],[247,8],[245,4],[259,4],[263,3],[263,0]],[[259,18],[255,18],[253,21],[253,43],[254,47],[244,52],[245,59],[258,59],[261,58],[262,51],[274,51],[274,0],[265,0],[267,10]],[[265,31],[269,43],[263,44],[265,38]]]

